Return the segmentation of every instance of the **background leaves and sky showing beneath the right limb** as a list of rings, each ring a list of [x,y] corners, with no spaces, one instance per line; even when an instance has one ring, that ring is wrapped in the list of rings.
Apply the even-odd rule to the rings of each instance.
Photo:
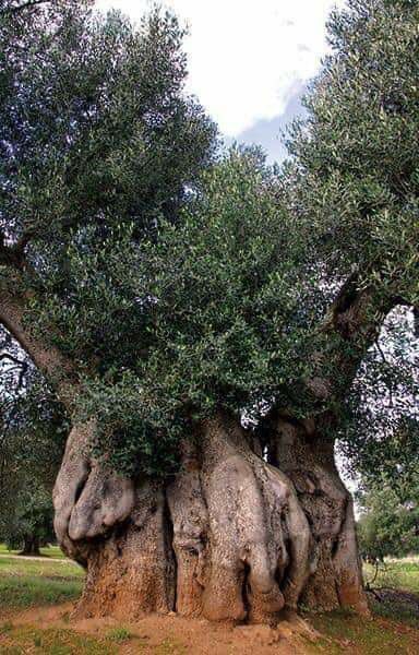
[[[403,502],[419,485],[418,346],[410,312],[385,321],[346,401],[339,452],[367,489],[383,477]]]

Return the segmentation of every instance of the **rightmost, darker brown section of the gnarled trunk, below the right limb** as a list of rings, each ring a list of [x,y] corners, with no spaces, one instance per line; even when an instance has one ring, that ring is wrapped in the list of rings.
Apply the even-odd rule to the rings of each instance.
[[[330,415],[302,424],[278,418],[271,456],[292,481],[310,524],[314,565],[301,602],[321,610],[349,606],[364,612],[354,502],[335,465],[333,424]]]

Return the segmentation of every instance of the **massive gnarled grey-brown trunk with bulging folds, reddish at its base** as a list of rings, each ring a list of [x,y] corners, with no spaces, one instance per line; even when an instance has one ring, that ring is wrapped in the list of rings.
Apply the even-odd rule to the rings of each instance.
[[[276,622],[299,603],[367,609],[330,440],[278,418],[262,456],[219,414],[185,439],[175,479],[151,483],[101,471],[88,430],[73,429],[55,489],[60,543],[87,568],[80,614]]]

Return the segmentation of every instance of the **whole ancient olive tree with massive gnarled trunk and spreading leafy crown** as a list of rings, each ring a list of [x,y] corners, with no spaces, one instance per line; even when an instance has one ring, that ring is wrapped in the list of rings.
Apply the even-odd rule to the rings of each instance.
[[[0,321],[72,419],[79,611],[362,611],[334,442],[384,318],[418,305],[416,3],[334,14],[280,170],[215,156],[172,16],[7,4]]]

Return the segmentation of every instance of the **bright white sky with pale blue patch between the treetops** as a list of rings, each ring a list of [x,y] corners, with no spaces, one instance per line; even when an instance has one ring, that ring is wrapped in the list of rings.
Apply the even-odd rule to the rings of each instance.
[[[325,23],[345,0],[166,0],[188,25],[188,91],[227,142],[260,143],[282,159],[279,134],[327,51]],[[137,22],[151,0],[97,0]]]

